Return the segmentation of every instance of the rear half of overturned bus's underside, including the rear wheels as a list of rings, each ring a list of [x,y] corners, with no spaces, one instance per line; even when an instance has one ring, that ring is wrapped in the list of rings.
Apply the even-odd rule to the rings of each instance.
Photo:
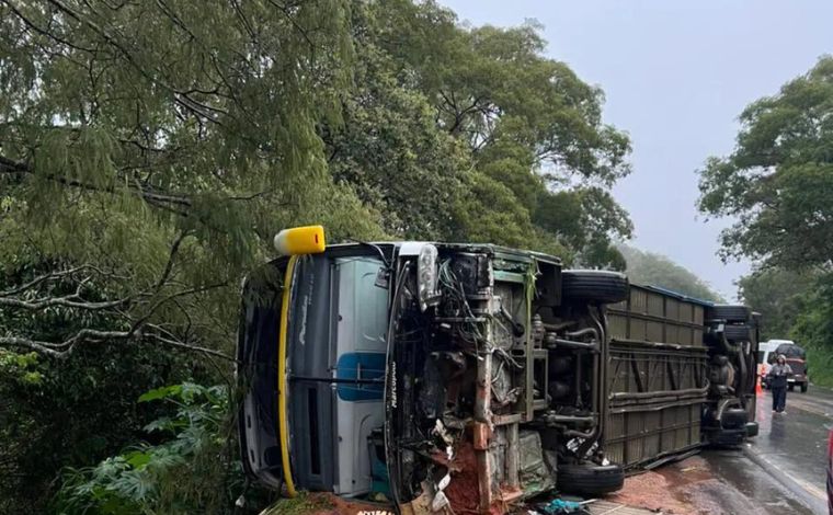
[[[757,434],[757,324],[748,307],[631,285],[607,320],[609,459],[655,467]]]

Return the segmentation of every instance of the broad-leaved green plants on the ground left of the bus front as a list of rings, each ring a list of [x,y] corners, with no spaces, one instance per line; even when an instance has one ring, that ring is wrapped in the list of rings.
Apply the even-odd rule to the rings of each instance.
[[[172,416],[147,426],[161,434],[158,444],[141,444],[95,467],[67,469],[55,501],[56,513],[144,514],[224,513],[231,505],[224,462],[227,454],[228,391],[225,387],[181,384],[151,390],[139,402],[168,401]],[[207,459],[206,459],[207,458]],[[214,464],[210,461],[214,460]],[[239,464],[238,464],[239,465]],[[198,466],[198,468],[197,468]],[[201,479],[199,491],[175,489],[178,474]]]

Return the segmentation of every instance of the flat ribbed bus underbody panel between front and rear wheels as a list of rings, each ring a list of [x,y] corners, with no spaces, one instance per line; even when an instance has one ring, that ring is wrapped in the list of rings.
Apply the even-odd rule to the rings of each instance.
[[[609,459],[635,469],[699,449],[709,390],[707,306],[631,285],[627,300],[608,308]]]

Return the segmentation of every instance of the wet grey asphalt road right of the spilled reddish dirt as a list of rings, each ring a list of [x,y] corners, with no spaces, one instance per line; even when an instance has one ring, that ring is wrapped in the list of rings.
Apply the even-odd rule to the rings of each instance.
[[[745,457],[766,469],[794,497],[809,507],[784,506],[780,513],[826,513],[826,445],[833,426],[833,391],[810,386],[807,393],[787,392],[786,414],[772,412],[772,393],[764,390],[757,397],[756,420],[761,432],[744,449]],[[711,460],[710,460],[711,461]],[[728,476],[739,490],[751,499],[766,497],[774,489],[763,482],[756,491],[755,474],[732,470],[731,459],[717,466],[718,473]],[[775,506],[773,506],[775,507]],[[778,511],[773,511],[778,513]]]

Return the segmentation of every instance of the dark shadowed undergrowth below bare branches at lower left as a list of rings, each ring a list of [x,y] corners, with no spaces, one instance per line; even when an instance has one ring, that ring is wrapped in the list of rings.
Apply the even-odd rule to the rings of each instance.
[[[43,513],[57,472],[83,467],[144,437],[159,407],[136,404],[148,386],[213,374],[167,350],[91,345],[56,366],[0,350],[0,512]]]

